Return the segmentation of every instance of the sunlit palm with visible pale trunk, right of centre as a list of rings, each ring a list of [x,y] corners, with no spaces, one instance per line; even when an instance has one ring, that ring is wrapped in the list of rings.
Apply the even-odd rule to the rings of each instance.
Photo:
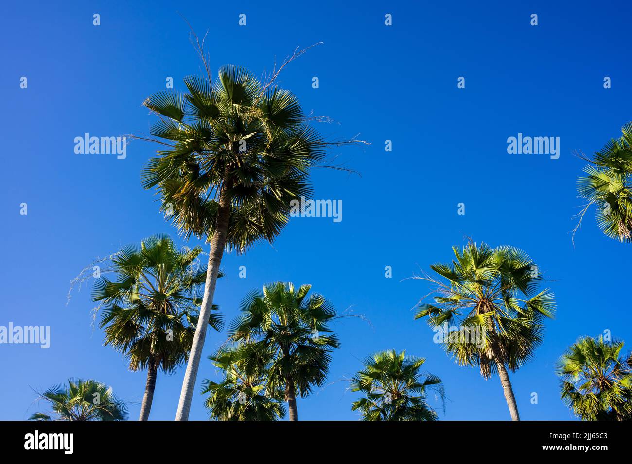
[[[498,372],[511,419],[520,420],[507,369],[514,372],[532,359],[544,318],[554,315],[555,297],[549,289],[538,292],[541,274],[518,248],[470,242],[453,251],[452,263],[430,266],[447,283],[422,277],[437,285],[435,304],[420,302],[415,319],[428,316],[435,341],[459,366],[478,366],[485,379]]]

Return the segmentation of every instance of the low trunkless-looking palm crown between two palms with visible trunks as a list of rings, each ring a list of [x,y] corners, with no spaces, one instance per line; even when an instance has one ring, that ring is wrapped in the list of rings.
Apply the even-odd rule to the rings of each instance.
[[[441,379],[420,372],[425,358],[406,356],[406,352],[384,351],[368,356],[364,369],[351,379],[351,391],[362,391],[366,398],[353,403],[363,420],[437,420],[437,413],[426,402],[426,390],[436,388],[444,396]]]

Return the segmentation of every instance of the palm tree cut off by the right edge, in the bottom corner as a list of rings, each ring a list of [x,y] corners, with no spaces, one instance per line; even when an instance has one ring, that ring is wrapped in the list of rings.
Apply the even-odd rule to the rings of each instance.
[[[632,354],[623,342],[581,337],[557,362],[561,398],[582,420],[632,420]]]

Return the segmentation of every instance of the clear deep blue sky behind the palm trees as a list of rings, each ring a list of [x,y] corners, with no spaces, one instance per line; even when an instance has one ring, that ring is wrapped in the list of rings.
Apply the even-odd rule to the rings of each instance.
[[[133,402],[130,419],[138,417],[145,373],[128,371],[92,329],[92,282],[75,290],[68,306],[66,294],[94,258],[149,235],[177,233],[154,193],[140,186],[155,146],[133,141],[126,159],[117,160],[75,155],[73,140],[148,133],[154,117],[143,99],[162,90],[167,76],[182,90],[183,76],[199,72],[178,11],[198,33],[209,29],[215,70],[232,63],[260,74],[275,56],[281,61],[298,45],[324,42],[291,63],[281,85],[307,112],[336,120],[317,126],[325,136],[362,133],[372,142],[334,152],[362,177],[313,173],[315,198],[343,201],[342,222],[295,218],[272,246],[261,243],[222,261],[226,278],[216,302],[228,320],[249,290],[291,280],[311,283],[339,311],[352,307],[372,322],[336,324],[342,347],[331,384],[298,400],[300,419],[358,419],[351,412],[356,395],[344,379],[366,355],[387,348],[426,357],[428,371],[443,379],[449,401],[441,419],[509,419],[499,379],[456,366],[428,326],[413,321],[411,308],[428,285],[405,279],[451,259],[451,246],[463,245],[465,236],[521,247],[556,294],[557,318],[547,323],[544,343],[511,376],[522,419],[573,419],[559,400],[554,364],[578,336],[611,330],[632,348],[632,312],[622,297],[632,246],[605,237],[592,212],[574,248],[568,233],[581,205],[575,179],[584,165],[572,153],[599,150],[632,119],[629,4],[70,1],[4,9],[0,325],[51,326],[51,347],[0,345],[0,419],[27,419],[38,410],[34,390],[73,376],[110,384]],[[457,88],[459,76],[465,89]],[[604,76],[612,88],[604,89]],[[559,137],[559,159],[507,154],[507,138],[518,133]],[[392,152],[385,152],[385,140],[392,140]],[[21,203],[28,215],[20,215]],[[465,215],[458,215],[459,203]],[[239,266],[246,266],[246,278],[238,277]],[[385,266],[392,266],[392,278],[384,277]],[[205,357],[225,336],[207,336],[198,385],[218,378]],[[159,374],[151,419],[173,419],[183,372]],[[207,418],[199,391],[190,419]],[[435,398],[430,404],[439,407]]]

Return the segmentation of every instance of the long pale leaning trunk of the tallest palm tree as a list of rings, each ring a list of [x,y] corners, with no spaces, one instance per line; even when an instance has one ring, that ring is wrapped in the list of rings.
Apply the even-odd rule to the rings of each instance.
[[[204,339],[206,338],[206,331],[209,325],[210,310],[213,306],[217,273],[219,272],[222,255],[224,254],[224,246],[226,245],[230,215],[230,199],[228,195],[224,193],[224,187],[222,187],[222,192],[219,196],[219,211],[217,211],[217,227],[210,239],[209,266],[206,272],[202,309],[200,309],[200,318],[198,319],[197,328],[195,328],[195,336],[193,336],[193,345],[191,345],[189,361],[188,364],[186,364],[185,379],[182,383],[182,391],[180,392],[176,420],[189,419],[195,379],[197,378],[197,371],[200,367],[200,359],[202,358],[202,348],[204,348]]]

